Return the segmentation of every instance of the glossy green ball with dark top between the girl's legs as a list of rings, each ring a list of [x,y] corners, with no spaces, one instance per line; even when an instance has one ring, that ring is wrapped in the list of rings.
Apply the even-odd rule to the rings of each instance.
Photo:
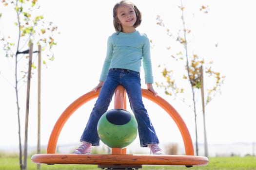
[[[98,136],[110,148],[125,148],[137,136],[138,123],[135,117],[124,109],[112,109],[98,120]]]

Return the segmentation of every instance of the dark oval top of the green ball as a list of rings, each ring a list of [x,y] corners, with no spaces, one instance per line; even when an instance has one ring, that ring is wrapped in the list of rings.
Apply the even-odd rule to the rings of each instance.
[[[131,114],[124,109],[112,109],[107,111],[106,119],[115,125],[124,125],[131,120]]]

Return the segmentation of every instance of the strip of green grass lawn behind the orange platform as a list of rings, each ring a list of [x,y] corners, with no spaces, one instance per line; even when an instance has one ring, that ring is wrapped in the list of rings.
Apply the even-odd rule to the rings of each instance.
[[[256,170],[256,157],[210,157],[207,166],[192,168],[179,166],[142,166],[139,170]],[[36,170],[37,164],[28,158],[27,170]],[[0,156],[0,170],[20,170],[18,157]],[[101,170],[97,165],[46,165],[40,170]]]

